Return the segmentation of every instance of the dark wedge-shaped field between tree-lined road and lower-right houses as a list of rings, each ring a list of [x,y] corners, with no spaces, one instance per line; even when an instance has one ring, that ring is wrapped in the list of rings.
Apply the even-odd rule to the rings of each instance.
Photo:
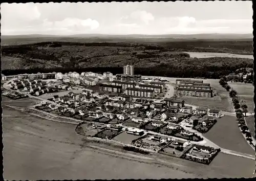
[[[222,148],[255,154],[240,132],[236,117],[225,115],[217,119],[217,123],[204,136]]]

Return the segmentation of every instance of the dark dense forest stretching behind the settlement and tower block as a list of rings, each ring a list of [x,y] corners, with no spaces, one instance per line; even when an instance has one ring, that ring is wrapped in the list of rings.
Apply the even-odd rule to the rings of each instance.
[[[210,44],[210,46],[209,46]],[[241,67],[253,68],[248,58],[191,58],[187,52],[252,54],[249,40],[181,42],[38,42],[2,47],[2,73],[37,72],[122,73],[133,64],[135,74],[184,78],[219,79]]]

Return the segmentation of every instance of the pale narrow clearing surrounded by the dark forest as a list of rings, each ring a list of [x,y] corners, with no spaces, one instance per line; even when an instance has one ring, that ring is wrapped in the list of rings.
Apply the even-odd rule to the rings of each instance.
[[[185,52],[192,58],[210,58],[210,57],[233,57],[233,58],[251,58],[253,55],[239,55],[230,53],[213,53],[213,52]]]

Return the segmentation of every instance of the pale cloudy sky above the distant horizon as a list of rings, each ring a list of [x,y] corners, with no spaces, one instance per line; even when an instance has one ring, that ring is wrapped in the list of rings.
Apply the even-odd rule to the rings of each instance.
[[[1,4],[2,35],[252,33],[251,1]]]

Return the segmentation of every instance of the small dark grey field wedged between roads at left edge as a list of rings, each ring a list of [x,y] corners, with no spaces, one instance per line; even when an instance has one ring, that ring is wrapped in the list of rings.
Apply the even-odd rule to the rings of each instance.
[[[18,106],[18,107],[31,107],[33,105],[36,105],[40,103],[37,99],[32,98],[24,98],[24,99],[9,99],[7,97],[2,96],[2,104],[10,105],[10,106]]]

